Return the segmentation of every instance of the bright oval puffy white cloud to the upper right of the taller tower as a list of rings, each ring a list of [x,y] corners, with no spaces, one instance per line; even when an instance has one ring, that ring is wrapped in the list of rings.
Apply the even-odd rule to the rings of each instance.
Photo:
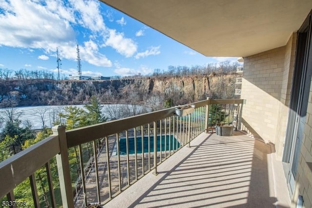
[[[109,38],[106,45],[113,47],[119,54],[132,57],[137,52],[137,44],[130,38],[125,38],[123,33],[109,29]]]

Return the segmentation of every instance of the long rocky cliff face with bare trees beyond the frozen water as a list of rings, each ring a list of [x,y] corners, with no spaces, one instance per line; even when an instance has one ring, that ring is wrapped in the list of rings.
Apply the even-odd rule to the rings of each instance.
[[[96,95],[102,103],[144,103],[152,96],[172,98],[174,104],[205,99],[232,98],[236,75],[160,77],[103,81],[1,80],[0,102],[14,98],[19,106],[88,103]],[[179,103],[182,102],[182,103]]]

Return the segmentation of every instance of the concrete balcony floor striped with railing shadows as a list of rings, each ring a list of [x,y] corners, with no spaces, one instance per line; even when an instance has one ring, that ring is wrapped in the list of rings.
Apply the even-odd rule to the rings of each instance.
[[[104,207],[290,207],[273,144],[201,133]]]

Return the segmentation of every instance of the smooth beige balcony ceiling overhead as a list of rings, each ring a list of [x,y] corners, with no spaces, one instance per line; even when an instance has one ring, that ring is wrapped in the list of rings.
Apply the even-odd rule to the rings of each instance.
[[[312,9],[312,0],[101,1],[208,57],[284,46]]]

